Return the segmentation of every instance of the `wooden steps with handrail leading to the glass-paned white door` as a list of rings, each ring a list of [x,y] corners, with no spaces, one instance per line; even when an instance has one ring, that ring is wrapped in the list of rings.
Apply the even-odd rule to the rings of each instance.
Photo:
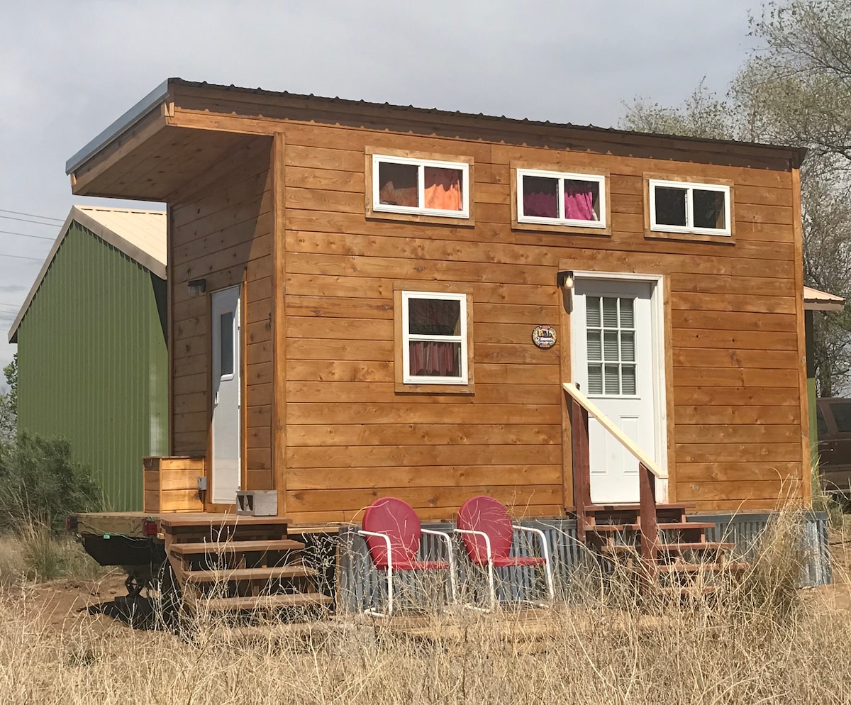
[[[747,564],[729,559],[734,544],[706,541],[706,530],[715,524],[688,521],[686,509],[694,505],[658,504],[656,480],[667,479],[665,470],[645,455],[577,387],[565,384],[564,391],[570,410],[574,504],[580,541],[609,567],[625,566],[640,576],[643,588],[664,593],[715,592],[722,576],[736,576],[747,570]],[[591,503],[589,414],[636,458],[637,504]]]

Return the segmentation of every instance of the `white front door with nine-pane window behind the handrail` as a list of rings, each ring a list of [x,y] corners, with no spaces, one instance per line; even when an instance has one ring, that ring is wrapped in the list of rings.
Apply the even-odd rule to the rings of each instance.
[[[580,278],[570,317],[574,382],[648,456],[660,462],[653,281]],[[588,421],[591,502],[638,502],[638,461],[593,418]]]

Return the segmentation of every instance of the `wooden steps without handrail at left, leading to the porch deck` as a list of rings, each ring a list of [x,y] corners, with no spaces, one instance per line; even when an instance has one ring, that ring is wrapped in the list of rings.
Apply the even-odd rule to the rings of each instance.
[[[158,520],[180,605],[189,613],[278,614],[326,609],[317,570],[288,519],[237,514],[169,514]]]

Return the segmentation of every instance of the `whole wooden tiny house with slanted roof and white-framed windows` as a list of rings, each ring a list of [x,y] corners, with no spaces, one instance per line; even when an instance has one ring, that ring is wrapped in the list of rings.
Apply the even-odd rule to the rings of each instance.
[[[174,508],[274,490],[307,524],[386,495],[569,511],[565,382],[665,468],[662,501],[808,503],[802,158],[174,78],[67,171],[168,205]],[[637,502],[589,438],[591,501]]]

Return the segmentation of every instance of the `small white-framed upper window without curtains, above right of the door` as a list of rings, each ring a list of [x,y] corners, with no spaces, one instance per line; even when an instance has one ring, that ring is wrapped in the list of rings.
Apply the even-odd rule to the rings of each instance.
[[[730,187],[649,179],[650,230],[732,235]]]

